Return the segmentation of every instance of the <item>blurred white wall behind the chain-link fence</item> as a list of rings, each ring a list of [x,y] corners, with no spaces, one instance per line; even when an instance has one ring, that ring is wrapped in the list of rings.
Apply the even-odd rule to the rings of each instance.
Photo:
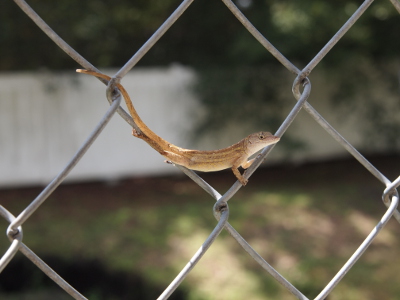
[[[104,72],[114,74],[112,70]],[[193,120],[202,114],[190,92],[194,80],[191,69],[171,66],[135,69],[122,84],[152,130],[178,146],[190,148],[188,136]],[[322,87],[320,91],[318,86]],[[323,82],[314,81],[312,93],[320,95],[317,109],[329,118],[332,111],[324,100],[325,87]],[[0,187],[47,184],[70,160],[107,108],[105,86],[88,75],[72,70],[0,74]],[[289,106],[286,113],[290,109]],[[347,127],[339,123],[337,129],[357,144],[356,123],[347,124]],[[274,132],[276,129],[267,130]],[[295,156],[297,160],[345,153],[304,112],[289,132],[306,140],[310,146],[310,151]],[[242,138],[225,137],[219,145],[209,143],[207,147],[203,143],[201,148],[224,147]],[[269,161],[281,159],[279,153],[278,144]],[[163,160],[145,142],[132,137],[130,126],[116,114],[68,180],[112,180],[177,172]]]

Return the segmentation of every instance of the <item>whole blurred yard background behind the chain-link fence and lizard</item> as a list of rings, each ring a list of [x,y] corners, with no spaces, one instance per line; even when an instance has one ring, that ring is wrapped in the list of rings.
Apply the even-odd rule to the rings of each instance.
[[[105,113],[105,87],[12,1],[0,10],[0,205],[18,215]],[[112,75],[180,4],[31,0],[69,45]],[[361,1],[237,0],[303,68]],[[376,1],[310,76],[309,102],[390,180],[399,175],[400,16]],[[278,129],[295,75],[220,1],[194,1],[124,77],[145,123],[176,145],[216,149]],[[230,171],[200,174],[220,193]],[[230,202],[229,222],[315,297],[385,212],[384,185],[300,112]],[[115,116],[67,180],[24,224],[24,242],[89,299],[155,299],[214,228],[213,200]],[[8,224],[0,221],[0,230]],[[329,299],[397,299],[400,226],[391,220]],[[0,253],[9,247],[1,239]],[[1,254],[1,255],[2,255]],[[223,232],[171,299],[293,299]],[[70,299],[22,254],[1,299]]]

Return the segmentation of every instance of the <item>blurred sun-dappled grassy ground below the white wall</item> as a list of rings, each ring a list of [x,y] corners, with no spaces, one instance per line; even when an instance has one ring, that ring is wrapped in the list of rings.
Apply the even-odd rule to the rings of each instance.
[[[399,171],[393,160],[377,164],[388,176]],[[219,191],[234,181],[228,172],[203,175]],[[385,212],[383,189],[352,161],[259,170],[229,201],[229,222],[312,299]],[[17,214],[38,192],[0,191],[0,204]],[[183,177],[63,185],[24,224],[24,242],[39,255],[99,259],[112,272],[166,287],[216,225],[213,204]],[[391,220],[329,300],[398,298],[399,234]],[[226,232],[182,286],[190,300],[295,299]]]

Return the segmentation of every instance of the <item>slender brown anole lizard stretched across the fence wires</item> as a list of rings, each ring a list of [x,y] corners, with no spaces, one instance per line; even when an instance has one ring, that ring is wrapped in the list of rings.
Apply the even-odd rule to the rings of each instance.
[[[108,81],[111,80],[111,77],[102,73],[83,69],[78,69],[76,71],[78,73],[85,73],[103,78]],[[133,129],[132,135],[147,142],[153,149],[164,156],[169,163],[203,172],[213,172],[231,168],[233,174],[240,183],[246,185],[248,180],[240,174],[238,168],[240,166],[244,169],[250,167],[254,162],[254,158],[249,161],[247,160],[250,156],[268,145],[277,143],[280,139],[270,132],[262,131],[250,134],[236,144],[219,150],[201,151],[180,148],[167,142],[151,131],[139,117],[125,88],[120,83],[116,83],[116,86],[121,91],[135,124],[140,129],[140,132]]]

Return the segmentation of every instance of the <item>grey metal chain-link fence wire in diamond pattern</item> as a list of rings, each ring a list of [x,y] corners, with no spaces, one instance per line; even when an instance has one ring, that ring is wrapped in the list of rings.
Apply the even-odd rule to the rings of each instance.
[[[243,26],[254,36],[257,41],[264,46],[286,69],[297,75],[294,80],[292,91],[294,98],[297,100],[289,115],[286,117],[282,125],[279,127],[275,135],[282,137],[288,129],[292,121],[296,118],[298,112],[303,108],[311,115],[315,121],[326,130],[341,146],[343,146],[355,159],[359,161],[369,172],[371,172],[376,179],[381,181],[385,186],[383,191],[382,200],[387,210],[382,216],[381,220],[377,223],[375,228],[369,233],[362,244],[348,259],[343,267],[337,272],[332,280],[315,298],[316,300],[325,299],[335,286],[343,279],[344,275],[352,268],[357,262],[364,251],[369,247],[371,242],[376,238],[382,228],[387,224],[391,217],[394,217],[400,223],[400,213],[397,210],[399,202],[399,195],[396,188],[400,185],[400,176],[393,182],[390,182],[379,170],[377,170],[367,159],[365,159],[348,141],[346,141],[308,102],[307,99],[311,92],[311,81],[308,75],[314,68],[321,62],[325,55],[336,45],[336,43],[346,34],[346,32],[354,25],[355,22],[363,15],[368,9],[373,0],[364,1],[354,14],[347,20],[347,22],[340,28],[339,31],[330,39],[330,41],[321,49],[321,51],[307,64],[307,66],[300,70],[293,63],[291,63],[285,56],[283,56],[243,15],[243,13],[235,6],[231,0],[222,0],[226,7],[232,14],[243,24]],[[41,18],[40,16],[23,0],[14,0],[14,2],[39,26],[65,53],[72,59],[79,63],[83,68],[88,70],[97,71],[96,67],[90,64],[84,57],[77,51],[63,41],[57,33],[55,33]],[[163,36],[163,34],[171,27],[172,24],[185,12],[193,0],[184,0],[179,7],[168,17],[168,19],[161,25],[161,27],[146,41],[146,43],[126,62],[126,64],[112,77],[110,82],[104,80],[104,84],[108,86],[108,91],[111,91],[113,85],[118,83],[128,72],[131,70],[149,51],[155,43]],[[394,8],[400,13],[400,2],[398,0],[390,0]],[[121,96],[113,96],[112,93],[107,93],[107,99],[110,102],[110,108],[106,111],[103,118],[99,121],[96,128],[89,135],[87,140],[82,144],[81,148],[71,158],[71,161],[61,170],[61,172],[51,181],[44,190],[34,199],[18,216],[13,216],[5,207],[0,206],[0,215],[5,218],[9,223],[7,229],[7,237],[11,241],[11,245],[2,256],[0,260],[0,272],[7,266],[13,259],[14,255],[21,251],[28,257],[39,269],[41,269],[48,277],[56,282],[62,289],[70,294],[75,299],[86,299],[56,272],[54,272],[44,261],[42,261],[32,250],[30,250],[23,242],[22,225],[29,219],[29,217],[40,208],[46,201],[49,195],[63,182],[68,173],[79,163],[79,160],[85,155],[88,148],[100,135],[102,130],[107,126],[110,119],[117,112],[126,122],[131,126],[136,127],[131,117],[120,107]],[[263,149],[261,155],[256,159],[256,162],[245,172],[245,177],[248,178],[262,163],[265,157],[272,151],[274,145],[270,145]],[[171,284],[159,296],[158,299],[167,299],[174,290],[185,279],[189,272],[196,266],[205,252],[213,244],[217,236],[223,229],[227,230],[232,237],[243,247],[243,249],[250,254],[260,266],[267,271],[273,278],[275,278],[283,287],[297,299],[306,300],[301,291],[294,287],[288,280],[279,274],[268,262],[266,262],[240,234],[228,223],[229,207],[228,201],[235,195],[241,188],[241,184],[236,182],[224,194],[219,194],[212,186],[200,178],[196,173],[184,167],[177,166],[182,172],[189,176],[194,182],[202,187],[207,193],[215,198],[214,215],[218,220],[216,227],[208,236],[208,238],[201,245],[199,250],[193,255],[192,259],[176,276]]]

